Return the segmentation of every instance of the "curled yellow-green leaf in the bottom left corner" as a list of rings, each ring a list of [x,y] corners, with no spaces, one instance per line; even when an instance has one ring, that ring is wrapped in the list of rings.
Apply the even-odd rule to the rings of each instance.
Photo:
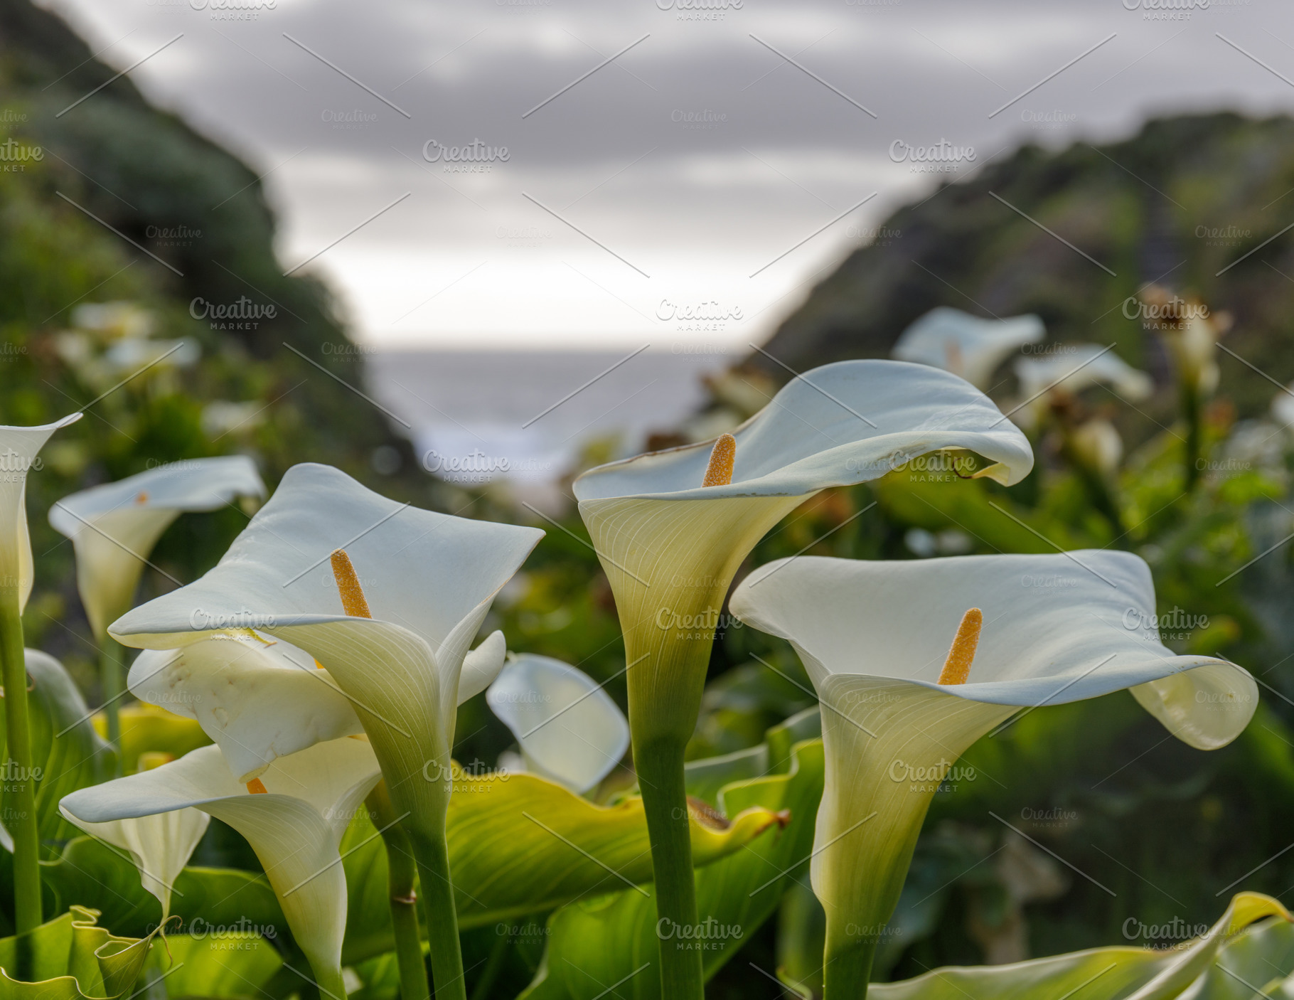
[[[135,986],[153,938],[119,938],[97,925],[98,913],[72,907],[32,931],[31,982],[9,975],[18,964],[16,938],[0,940],[0,1000],[116,997]]]

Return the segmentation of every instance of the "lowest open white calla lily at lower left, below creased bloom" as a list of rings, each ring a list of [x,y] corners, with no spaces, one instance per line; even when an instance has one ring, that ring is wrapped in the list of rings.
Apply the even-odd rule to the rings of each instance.
[[[250,785],[234,779],[219,746],[203,746],[151,771],[72,792],[60,807],[85,824],[188,810],[228,823],[256,851],[320,986],[342,997],[347,895],[338,845],[380,776],[362,739],[281,757]]]

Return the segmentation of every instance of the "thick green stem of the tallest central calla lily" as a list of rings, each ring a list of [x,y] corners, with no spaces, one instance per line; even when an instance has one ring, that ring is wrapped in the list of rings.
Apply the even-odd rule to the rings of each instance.
[[[705,996],[701,952],[688,948],[695,928],[696,885],[692,881],[692,841],[687,823],[687,792],[683,788],[683,748],[679,740],[634,741],[651,863],[656,878],[656,937],[660,939],[660,986],[665,1000],[703,1000]],[[661,928],[674,933],[661,933]]]

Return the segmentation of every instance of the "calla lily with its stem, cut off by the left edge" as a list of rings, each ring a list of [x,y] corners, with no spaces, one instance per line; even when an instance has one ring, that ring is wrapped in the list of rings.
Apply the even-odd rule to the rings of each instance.
[[[13,900],[18,935],[40,926],[39,834],[36,789],[31,780],[31,730],[27,724],[27,669],[22,609],[31,596],[34,561],[27,532],[27,471],[40,467],[38,454],[49,436],[80,419],[72,413],[40,427],[0,427],[0,684],[9,759],[22,775],[12,787],[18,812],[13,820]]]

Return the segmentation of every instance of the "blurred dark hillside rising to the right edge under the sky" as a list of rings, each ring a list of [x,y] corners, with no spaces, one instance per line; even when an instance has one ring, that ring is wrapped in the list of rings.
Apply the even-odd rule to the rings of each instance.
[[[1139,287],[1158,282],[1229,310],[1236,323],[1225,347],[1289,382],[1294,232],[1284,230],[1291,217],[1288,118],[1183,116],[1149,122],[1134,138],[1105,146],[1024,146],[894,212],[881,226],[897,235],[854,251],[766,347],[802,370],[884,357],[936,305],[978,316],[1033,312],[1055,339],[1114,343],[1163,384],[1158,336],[1122,309]],[[785,378],[758,356],[752,364]],[[1250,415],[1267,408],[1275,387],[1224,357],[1220,391]]]

